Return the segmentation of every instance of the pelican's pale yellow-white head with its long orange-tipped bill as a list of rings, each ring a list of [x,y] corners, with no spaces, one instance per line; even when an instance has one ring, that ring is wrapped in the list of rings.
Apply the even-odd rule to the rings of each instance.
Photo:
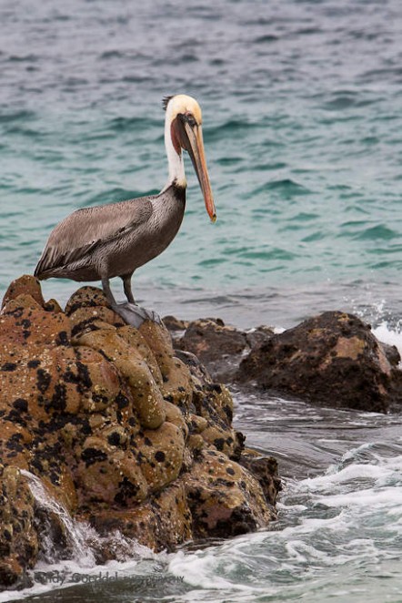
[[[166,109],[166,136],[170,136],[178,157],[186,150],[193,162],[196,176],[206,203],[206,211],[215,222],[216,210],[206,169],[206,156],[202,133],[201,107],[193,97],[177,94],[164,98]]]

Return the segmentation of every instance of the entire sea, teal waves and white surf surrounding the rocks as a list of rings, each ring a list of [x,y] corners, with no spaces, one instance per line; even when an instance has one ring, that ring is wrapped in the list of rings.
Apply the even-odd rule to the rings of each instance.
[[[242,327],[345,309],[400,345],[399,0],[0,0],[1,295],[68,213],[166,184],[161,100],[177,92],[203,108],[218,219],[186,160],[185,220],[135,274],[138,301]],[[62,302],[76,287],[43,285]],[[132,543],[101,568],[80,548],[41,568],[116,582],[0,601],[400,603],[399,418],[235,396],[285,477],[272,529],[169,555]]]

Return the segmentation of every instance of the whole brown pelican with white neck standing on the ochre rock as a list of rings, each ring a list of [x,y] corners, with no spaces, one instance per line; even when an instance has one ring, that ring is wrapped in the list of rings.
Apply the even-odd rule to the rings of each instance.
[[[192,160],[209,218],[216,209],[206,169],[201,108],[179,94],[163,100],[165,146],[169,168],[166,187],[157,195],[76,210],[52,230],[35,268],[39,280],[102,281],[111,307],[126,322],[139,326],[158,321],[155,312],[136,305],[131,288],[134,271],[166,250],[175,239],[186,207],[183,150]],[[127,301],[117,303],[109,279],[119,276]]]

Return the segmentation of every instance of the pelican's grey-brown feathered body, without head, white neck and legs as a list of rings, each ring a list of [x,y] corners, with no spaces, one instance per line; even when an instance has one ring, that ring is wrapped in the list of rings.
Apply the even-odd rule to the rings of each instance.
[[[130,276],[159,255],[183,220],[186,189],[76,210],[50,234],[35,276],[99,281]]]

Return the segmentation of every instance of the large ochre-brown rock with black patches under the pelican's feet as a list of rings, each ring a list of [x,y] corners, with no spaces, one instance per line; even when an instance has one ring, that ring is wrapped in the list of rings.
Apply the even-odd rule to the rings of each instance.
[[[211,353],[225,330],[215,325]],[[243,342],[227,354],[241,355]],[[65,529],[38,508],[28,475],[99,534],[118,529],[155,550],[276,517],[275,461],[250,465],[229,391],[185,348],[175,352],[164,326],[127,326],[94,287],[63,312],[33,277],[10,285],[0,313],[2,588],[24,586],[45,555],[44,522]],[[114,558],[113,547],[96,555]]]

